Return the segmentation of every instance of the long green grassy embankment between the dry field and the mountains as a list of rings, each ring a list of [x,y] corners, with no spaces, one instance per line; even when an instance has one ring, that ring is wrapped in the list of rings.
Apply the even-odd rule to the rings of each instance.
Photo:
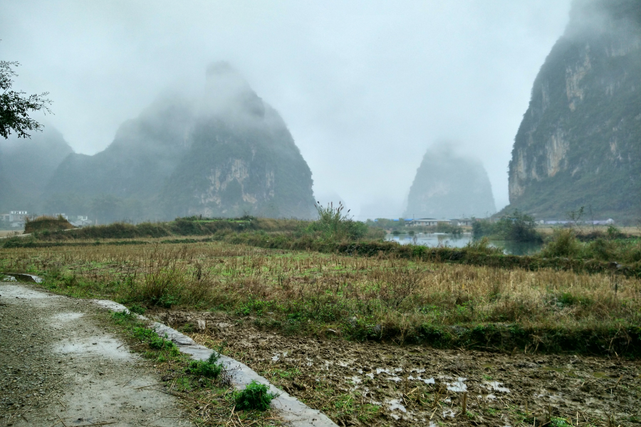
[[[505,240],[519,240],[532,231],[511,226]],[[518,223],[516,224],[518,225]],[[530,234],[527,234],[530,233]],[[426,248],[402,246],[382,241],[385,233],[364,223],[347,221],[338,209],[327,209],[320,221],[275,220],[269,218],[199,219],[178,218],[167,223],[131,225],[114,223],[108,226],[77,228],[66,231],[38,231],[32,236],[9,238],[4,248],[47,248],[56,246],[145,245],[154,243],[226,242],[260,248],[293,251],[318,251],[347,255],[419,258],[431,262],[481,265],[496,268],[523,268],[536,271],[541,268],[612,273],[627,277],[641,277],[641,243],[638,238],[620,238],[604,235],[590,243],[581,243],[571,236],[573,246],[566,251],[558,248],[551,255],[505,255],[479,240],[466,248]],[[536,238],[536,234],[534,234]],[[561,236],[561,235],[559,235]],[[552,243],[558,240],[551,238]],[[568,239],[565,239],[568,241]],[[576,244],[574,244],[576,243]],[[587,246],[586,246],[587,245]],[[582,248],[576,250],[576,248]]]

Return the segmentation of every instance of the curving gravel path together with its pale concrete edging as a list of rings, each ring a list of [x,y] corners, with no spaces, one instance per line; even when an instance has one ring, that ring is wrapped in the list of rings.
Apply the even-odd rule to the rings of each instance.
[[[33,280],[34,285],[42,281],[35,275],[0,275],[0,344],[9,348],[5,357],[0,356],[0,379],[6,377],[2,382],[8,384],[0,386],[0,394],[5,394],[6,391],[6,397],[0,399],[0,423],[5,421],[7,426],[51,426],[58,421],[58,426],[63,426],[63,420],[73,417],[75,421],[80,420],[73,424],[75,426],[96,422],[114,423],[115,426],[149,422],[147,418],[143,421],[144,417],[131,418],[128,410],[131,405],[127,403],[131,401],[135,403],[132,407],[139,408],[143,414],[145,411],[147,414],[164,413],[156,407],[158,405],[171,408],[170,411],[165,411],[167,416],[163,417],[167,426],[192,425],[186,417],[179,414],[171,396],[142,396],[152,392],[152,389],[146,387],[157,380],[147,372],[137,371],[133,366],[137,359],[134,360],[126,344],[108,333],[104,326],[96,325],[95,321],[87,316],[92,311],[91,307],[129,312],[127,307],[111,300],[81,300],[55,295],[44,289],[34,288],[33,285],[17,283],[16,277]],[[145,316],[137,317],[152,322],[152,330],[160,337],[171,339],[180,352],[189,354],[192,359],[207,360],[213,352],[212,349],[196,344],[191,338],[167,325],[153,322]],[[14,322],[15,320],[17,321]],[[25,339],[25,342],[21,342]],[[47,354],[52,353],[56,357],[47,357]],[[272,400],[271,406],[289,425],[337,427],[328,416],[309,408],[286,391],[277,389],[246,364],[224,355],[221,355],[219,360],[229,371],[231,383],[236,389],[243,389],[251,381],[269,386],[270,391],[278,395]],[[55,373],[52,374],[55,378],[38,374],[39,371],[51,371]],[[119,384],[129,379],[127,377],[120,381],[120,376],[123,375],[136,378],[135,381],[127,383],[128,386],[140,387],[134,389],[135,394],[123,394],[124,387]],[[30,380],[30,376],[35,376],[37,381],[33,384],[29,382],[22,388],[16,386],[21,384],[21,381]],[[45,378],[40,381],[43,376]],[[31,390],[34,386],[36,392]],[[80,393],[74,394],[70,386],[71,389],[79,389]],[[46,394],[47,399],[43,400]],[[51,397],[53,394],[55,396]],[[101,394],[105,396],[100,397]],[[92,399],[100,405],[92,406]],[[68,404],[76,401],[80,404]],[[73,414],[70,412],[71,406],[75,409]],[[114,406],[122,410],[113,412]],[[174,415],[170,416],[169,413],[172,411]],[[42,423],[27,421],[28,414],[43,418]],[[108,421],[105,421],[105,417]],[[83,421],[86,422],[83,424]]]

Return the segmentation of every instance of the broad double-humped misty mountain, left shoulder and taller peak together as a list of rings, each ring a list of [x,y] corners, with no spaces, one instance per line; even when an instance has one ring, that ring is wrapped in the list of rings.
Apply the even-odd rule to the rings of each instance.
[[[208,68],[198,99],[157,100],[103,152],[69,156],[47,190],[70,205],[101,195],[89,209],[109,211],[103,221],[314,212],[311,171],[285,123],[227,63]]]

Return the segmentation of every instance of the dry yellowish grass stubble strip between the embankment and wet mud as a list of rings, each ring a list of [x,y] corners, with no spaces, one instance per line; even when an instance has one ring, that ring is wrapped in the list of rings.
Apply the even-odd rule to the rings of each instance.
[[[4,249],[5,270],[48,272],[76,295],[298,313],[323,325],[587,327],[637,322],[641,281],[556,270],[275,251],[225,243]]]

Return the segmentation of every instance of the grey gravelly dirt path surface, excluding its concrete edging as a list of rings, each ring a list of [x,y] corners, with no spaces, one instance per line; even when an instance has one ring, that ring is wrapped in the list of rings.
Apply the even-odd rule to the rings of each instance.
[[[0,283],[0,426],[191,426],[91,302]]]

